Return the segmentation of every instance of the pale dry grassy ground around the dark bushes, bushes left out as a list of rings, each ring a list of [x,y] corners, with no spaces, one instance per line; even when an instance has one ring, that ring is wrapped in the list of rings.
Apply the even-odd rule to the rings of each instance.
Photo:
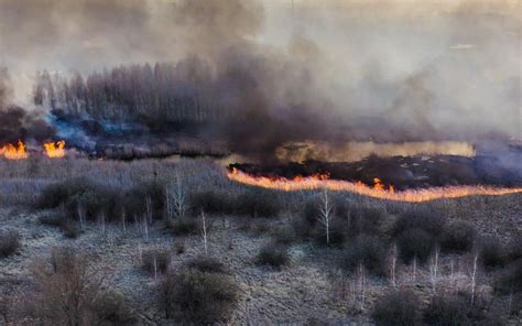
[[[213,161],[40,159],[2,161],[0,166],[0,230],[15,231],[20,239],[20,248],[1,258],[2,323],[52,324],[56,318],[64,318],[65,313],[59,309],[51,318],[45,314],[48,312],[28,304],[29,297],[45,295],[35,270],[42,261],[47,264],[58,247],[70,247],[88,257],[89,275],[102,280],[102,292],[117,292],[124,297],[128,309],[115,315],[120,319],[122,314],[133,316],[128,319],[130,324],[180,323],[181,319],[165,318],[161,284],[168,273],[182,274],[200,257],[221,263],[237,285],[230,313],[218,319],[230,324],[371,324],[377,318],[376,303],[392,289],[412,291],[418,298],[415,303],[418,312],[426,311],[432,297],[437,295],[466,300],[472,295],[477,323],[521,323],[520,292],[516,292],[520,290],[512,285],[505,292],[497,285],[512,262],[485,264],[483,257],[477,253],[483,251],[480,243],[485,239],[496,239],[496,246],[505,248],[503,251],[513,250],[511,243],[522,235],[521,194],[406,204],[331,193],[329,200],[334,203],[336,217],[331,220],[327,246],[323,225],[309,220],[314,205],[322,207],[322,192],[248,188],[229,181],[224,167]],[[85,182],[84,191],[95,194],[89,197],[91,202],[81,197],[83,194],[73,200],[76,206],[70,198],[54,208],[42,203],[42,194],[50,192],[50,185],[70,180],[80,186],[85,180],[96,184]],[[161,192],[149,192],[143,185],[148,182],[160,184]],[[108,206],[101,197],[96,197],[96,192],[106,198],[115,196],[117,203]],[[157,200],[154,194],[173,202]],[[168,210],[168,205],[177,207],[180,203],[174,199],[178,198],[184,205],[182,211]],[[121,210],[126,207],[129,209]],[[206,246],[202,209],[206,210]],[[444,235],[436,246],[426,249],[425,257],[414,247],[420,244],[407,244],[404,237],[395,235],[399,220],[404,220],[412,209],[444,219]],[[61,216],[67,224],[53,225],[50,219],[54,216]],[[457,232],[460,238],[448,240],[452,228],[458,227],[456,220],[472,231]],[[181,227],[176,221],[188,227]],[[471,237],[469,233],[472,233],[469,243],[460,243],[461,238]],[[366,246],[361,244],[365,237],[374,239],[370,242],[379,242],[382,250],[370,246],[372,249],[367,253],[359,252],[359,247]],[[399,251],[393,251],[398,247]],[[268,253],[261,258],[263,248]],[[418,251],[418,259],[403,254],[407,250]],[[284,259],[273,251],[283,252]],[[382,251],[382,258],[376,251]],[[154,252],[167,256],[166,274],[161,271],[160,256]],[[150,254],[157,258],[152,268]],[[478,256],[475,269],[474,256]],[[107,319],[107,325],[119,325],[115,322],[118,318]]]

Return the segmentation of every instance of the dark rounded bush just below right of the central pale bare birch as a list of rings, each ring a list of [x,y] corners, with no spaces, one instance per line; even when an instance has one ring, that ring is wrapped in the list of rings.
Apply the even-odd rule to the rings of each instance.
[[[358,236],[342,251],[341,268],[354,272],[362,264],[369,272],[377,275],[385,273],[387,248],[377,237]]]

